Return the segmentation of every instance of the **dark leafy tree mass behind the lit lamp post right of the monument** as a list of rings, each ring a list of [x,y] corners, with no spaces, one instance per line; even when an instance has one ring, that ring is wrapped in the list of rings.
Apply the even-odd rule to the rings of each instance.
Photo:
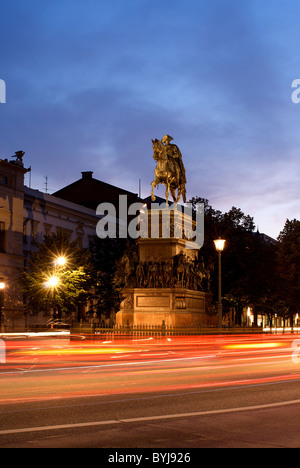
[[[215,210],[208,200],[194,197],[190,200],[196,209],[197,203],[204,204],[204,245],[201,255],[206,262],[217,265],[214,239],[226,239],[222,253],[223,310],[236,310],[237,323],[241,323],[243,309],[254,308],[255,315],[265,308],[273,310],[276,291],[276,248],[272,242],[265,242],[251,216],[240,208],[232,207],[228,212]],[[212,275],[212,291],[217,301],[218,268]]]

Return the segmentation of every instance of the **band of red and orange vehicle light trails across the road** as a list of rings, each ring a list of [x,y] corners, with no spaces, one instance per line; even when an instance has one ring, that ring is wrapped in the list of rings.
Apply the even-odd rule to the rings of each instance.
[[[169,340],[8,343],[0,404],[300,379],[294,335]]]

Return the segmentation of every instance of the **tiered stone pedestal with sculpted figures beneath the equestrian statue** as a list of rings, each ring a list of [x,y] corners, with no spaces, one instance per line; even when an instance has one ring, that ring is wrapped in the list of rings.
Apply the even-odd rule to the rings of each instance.
[[[127,285],[122,291],[117,324],[162,325],[164,321],[172,327],[206,327],[211,313],[209,275],[187,235],[192,237],[192,218],[177,211],[170,215],[169,210],[148,211],[147,216],[144,237],[137,241],[135,287]]]

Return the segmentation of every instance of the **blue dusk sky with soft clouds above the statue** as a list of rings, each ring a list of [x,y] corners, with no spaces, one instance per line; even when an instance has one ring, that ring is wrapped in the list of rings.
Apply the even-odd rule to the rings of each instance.
[[[299,0],[1,0],[0,39],[0,157],[32,188],[93,171],[146,197],[169,134],[188,199],[275,238],[299,219]]]

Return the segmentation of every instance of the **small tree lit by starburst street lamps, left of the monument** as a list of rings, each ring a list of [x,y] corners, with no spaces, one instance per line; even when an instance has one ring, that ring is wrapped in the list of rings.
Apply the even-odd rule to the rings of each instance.
[[[21,286],[29,309],[50,305],[57,318],[62,313],[74,317],[92,298],[94,278],[90,253],[59,232],[45,236],[38,244],[21,277]]]

